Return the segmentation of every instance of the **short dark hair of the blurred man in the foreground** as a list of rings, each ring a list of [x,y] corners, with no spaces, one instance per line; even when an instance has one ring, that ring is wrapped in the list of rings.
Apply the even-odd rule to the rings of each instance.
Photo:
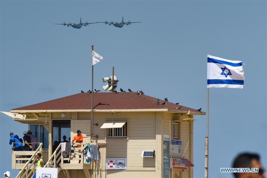
[[[239,154],[233,162],[233,168],[250,168],[251,161],[255,159],[257,161],[260,160],[260,156],[258,154],[251,154],[251,153],[241,153]],[[239,177],[239,173],[235,172],[234,176],[236,178]]]

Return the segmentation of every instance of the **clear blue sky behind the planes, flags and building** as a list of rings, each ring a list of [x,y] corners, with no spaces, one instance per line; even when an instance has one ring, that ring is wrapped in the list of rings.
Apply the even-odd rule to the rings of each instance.
[[[91,45],[104,57],[94,86],[112,66],[119,88],[206,108],[207,54],[246,65],[244,89],[210,89],[209,176],[232,177],[243,151],[266,168],[266,1],[0,1],[1,111],[91,88]],[[141,21],[75,29],[62,22]],[[9,133],[26,124],[1,114],[0,169],[11,171]],[[194,177],[204,176],[206,116],[194,122]]]

